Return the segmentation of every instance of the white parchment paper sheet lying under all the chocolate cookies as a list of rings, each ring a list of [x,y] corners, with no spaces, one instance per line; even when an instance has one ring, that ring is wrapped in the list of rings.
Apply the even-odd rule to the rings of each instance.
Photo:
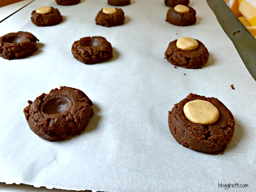
[[[36,27],[30,13],[39,6],[58,8],[64,21]],[[253,190],[256,83],[206,2],[190,3],[197,22],[188,27],[165,22],[168,7],[157,0],[122,7],[122,26],[95,25],[106,6],[36,0],[0,23],[0,36],[28,31],[40,40],[33,56],[0,58],[0,182],[111,192],[220,191],[220,183],[239,183],[249,188],[230,190]],[[105,37],[113,59],[91,66],[74,59],[71,46],[85,36]],[[175,69],[164,59],[169,42],[183,36],[207,47],[203,69]],[[85,92],[95,114],[81,135],[48,142],[29,130],[23,108],[59,86]],[[172,137],[168,111],[191,92],[217,97],[232,112],[235,133],[223,155],[184,148]]]

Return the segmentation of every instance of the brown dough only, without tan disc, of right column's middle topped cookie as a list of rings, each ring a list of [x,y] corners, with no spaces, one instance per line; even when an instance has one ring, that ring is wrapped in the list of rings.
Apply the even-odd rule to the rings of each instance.
[[[177,39],[167,47],[165,58],[173,65],[183,68],[201,68],[209,58],[209,52],[200,41],[194,51],[183,51],[176,46]]]

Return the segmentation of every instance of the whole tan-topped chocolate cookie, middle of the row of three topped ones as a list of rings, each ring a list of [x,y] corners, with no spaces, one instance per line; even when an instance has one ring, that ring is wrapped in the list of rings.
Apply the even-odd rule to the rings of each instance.
[[[124,24],[124,12],[122,9],[104,7],[95,18],[97,25],[113,27]]]

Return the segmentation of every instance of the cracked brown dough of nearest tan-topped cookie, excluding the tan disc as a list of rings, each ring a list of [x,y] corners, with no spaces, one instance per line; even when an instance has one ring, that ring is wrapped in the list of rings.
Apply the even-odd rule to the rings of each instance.
[[[217,122],[210,125],[190,122],[183,113],[184,105],[192,100],[206,100],[220,113]],[[228,108],[213,97],[204,97],[190,93],[185,99],[175,104],[169,111],[168,124],[172,136],[184,147],[207,153],[223,153],[233,137],[235,120]]]

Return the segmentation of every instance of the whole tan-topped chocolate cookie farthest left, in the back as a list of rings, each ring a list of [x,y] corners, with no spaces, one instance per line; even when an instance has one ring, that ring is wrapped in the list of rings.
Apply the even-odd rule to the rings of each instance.
[[[31,15],[31,21],[39,27],[57,25],[62,21],[59,10],[53,7],[39,7]]]

